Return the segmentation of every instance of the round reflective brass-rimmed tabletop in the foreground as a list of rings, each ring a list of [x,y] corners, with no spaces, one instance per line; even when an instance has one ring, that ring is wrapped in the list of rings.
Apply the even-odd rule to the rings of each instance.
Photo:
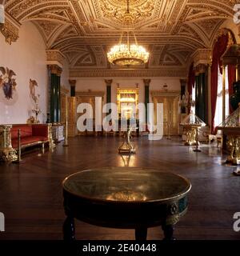
[[[112,167],[70,175],[63,189],[96,201],[164,202],[184,196],[190,182],[177,174],[154,169]]]

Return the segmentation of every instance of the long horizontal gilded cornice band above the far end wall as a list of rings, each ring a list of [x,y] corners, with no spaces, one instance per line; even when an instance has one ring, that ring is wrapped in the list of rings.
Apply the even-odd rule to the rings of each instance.
[[[70,78],[83,77],[186,77],[185,68],[158,70],[70,70]]]

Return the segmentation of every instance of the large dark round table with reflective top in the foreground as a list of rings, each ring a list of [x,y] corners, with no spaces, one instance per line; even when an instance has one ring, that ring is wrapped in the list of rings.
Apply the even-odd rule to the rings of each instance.
[[[162,226],[174,239],[174,224],[186,214],[190,182],[177,174],[147,168],[83,170],[62,182],[65,240],[75,239],[74,218],[103,227],[134,229],[146,240],[147,229]]]

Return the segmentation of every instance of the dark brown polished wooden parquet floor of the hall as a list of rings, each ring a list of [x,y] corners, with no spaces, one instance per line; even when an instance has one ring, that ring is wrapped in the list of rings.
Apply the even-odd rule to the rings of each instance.
[[[240,211],[240,178],[234,168],[222,165],[216,147],[201,153],[183,146],[180,138],[148,141],[134,138],[137,154],[118,154],[121,138],[78,137],[68,148],[54,152],[34,150],[18,164],[0,164],[0,212],[6,232],[0,239],[62,239],[62,180],[69,174],[94,167],[136,166],[182,174],[190,179],[188,213],[176,226],[178,239],[240,239],[233,230],[233,215]],[[76,222],[78,239],[134,239],[134,230],[115,230]],[[148,239],[162,239],[161,228],[148,231]]]

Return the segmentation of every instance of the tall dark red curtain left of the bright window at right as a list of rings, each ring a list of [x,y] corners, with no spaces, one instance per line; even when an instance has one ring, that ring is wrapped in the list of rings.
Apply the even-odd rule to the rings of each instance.
[[[223,34],[214,45],[213,62],[211,66],[211,112],[212,112],[212,133],[214,133],[214,117],[218,94],[218,66],[222,74],[222,54],[225,53],[228,44],[228,34]]]

